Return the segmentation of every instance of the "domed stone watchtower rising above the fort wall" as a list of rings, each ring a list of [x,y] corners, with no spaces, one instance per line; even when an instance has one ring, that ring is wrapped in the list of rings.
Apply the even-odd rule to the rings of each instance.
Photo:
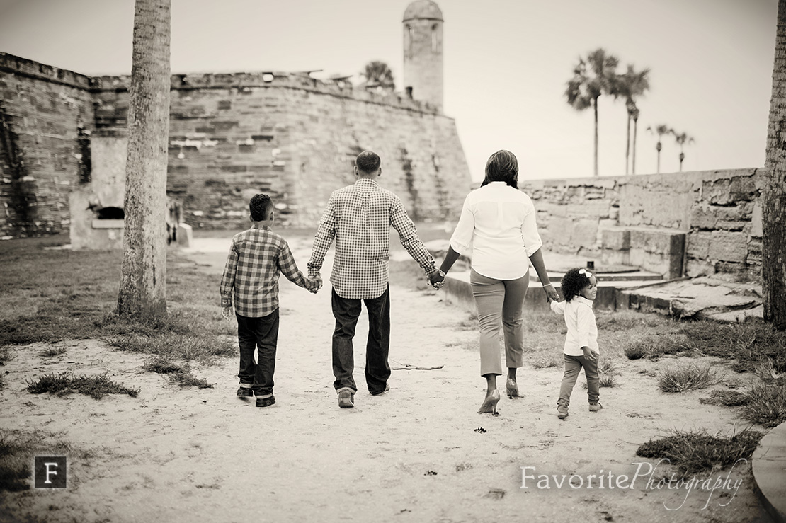
[[[443,107],[443,15],[432,0],[404,11],[404,87],[415,100]]]

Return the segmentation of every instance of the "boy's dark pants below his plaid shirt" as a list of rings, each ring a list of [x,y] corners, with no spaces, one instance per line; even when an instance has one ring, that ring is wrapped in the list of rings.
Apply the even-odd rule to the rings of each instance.
[[[241,383],[252,384],[256,396],[273,393],[278,342],[278,309],[260,318],[237,316],[237,344],[241,348]],[[258,349],[254,361],[254,349]]]

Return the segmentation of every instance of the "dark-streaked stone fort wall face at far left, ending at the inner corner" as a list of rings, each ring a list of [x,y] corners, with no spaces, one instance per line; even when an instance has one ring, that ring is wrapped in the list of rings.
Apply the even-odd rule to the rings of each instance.
[[[67,232],[90,181],[91,79],[0,53],[0,238]]]

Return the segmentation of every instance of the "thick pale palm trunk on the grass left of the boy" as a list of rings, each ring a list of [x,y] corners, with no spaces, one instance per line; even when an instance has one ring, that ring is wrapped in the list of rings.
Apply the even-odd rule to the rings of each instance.
[[[128,101],[123,266],[117,312],[167,312],[170,2],[136,0]]]

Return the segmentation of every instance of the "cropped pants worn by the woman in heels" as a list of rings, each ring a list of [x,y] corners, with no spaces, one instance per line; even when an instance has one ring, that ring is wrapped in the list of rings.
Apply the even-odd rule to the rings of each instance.
[[[518,280],[494,280],[474,270],[469,276],[480,322],[480,375],[502,374],[499,357],[500,328],[505,333],[505,364],[523,365],[522,309],[530,286],[530,272]]]

